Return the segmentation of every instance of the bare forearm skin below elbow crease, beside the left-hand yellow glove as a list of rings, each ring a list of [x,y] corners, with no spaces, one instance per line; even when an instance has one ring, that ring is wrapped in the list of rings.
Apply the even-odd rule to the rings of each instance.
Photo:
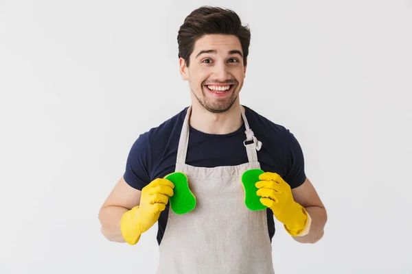
[[[125,242],[122,232],[120,231],[120,220],[127,208],[119,206],[108,206],[102,208],[99,213],[99,220],[102,224],[102,234],[112,242]]]

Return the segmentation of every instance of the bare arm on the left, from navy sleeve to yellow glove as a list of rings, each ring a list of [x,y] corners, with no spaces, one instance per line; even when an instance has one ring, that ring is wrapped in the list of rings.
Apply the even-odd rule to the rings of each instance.
[[[119,179],[99,211],[104,237],[113,242],[125,242],[120,232],[120,219],[124,212],[139,206],[140,197],[140,190],[129,186],[123,177]]]

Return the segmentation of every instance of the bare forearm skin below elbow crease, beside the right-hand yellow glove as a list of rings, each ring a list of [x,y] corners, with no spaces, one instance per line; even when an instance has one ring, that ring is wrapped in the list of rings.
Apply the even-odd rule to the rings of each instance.
[[[295,236],[293,238],[301,243],[315,243],[323,237],[323,229],[328,220],[328,215],[325,208],[318,206],[308,206],[305,209],[312,219],[309,232],[305,236]]]

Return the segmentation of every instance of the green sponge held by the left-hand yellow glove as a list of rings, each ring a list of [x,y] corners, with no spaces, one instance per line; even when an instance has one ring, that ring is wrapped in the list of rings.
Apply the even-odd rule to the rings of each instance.
[[[192,211],[196,206],[196,197],[189,188],[187,176],[181,172],[174,172],[165,176],[165,179],[174,184],[173,195],[169,197],[173,212],[185,214]]]

